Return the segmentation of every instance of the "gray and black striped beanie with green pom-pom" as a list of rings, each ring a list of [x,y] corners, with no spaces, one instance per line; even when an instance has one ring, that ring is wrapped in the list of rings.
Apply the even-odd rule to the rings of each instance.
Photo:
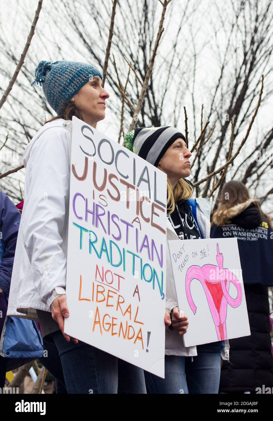
[[[185,136],[174,127],[141,127],[127,133],[124,140],[127,149],[156,167],[179,137],[186,142]]]

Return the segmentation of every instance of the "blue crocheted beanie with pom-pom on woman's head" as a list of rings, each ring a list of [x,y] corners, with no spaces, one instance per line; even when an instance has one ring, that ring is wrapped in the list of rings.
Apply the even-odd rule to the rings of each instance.
[[[102,74],[91,64],[79,61],[40,61],[35,69],[35,83],[43,86],[50,107],[60,115],[62,107],[87,83],[91,77]]]

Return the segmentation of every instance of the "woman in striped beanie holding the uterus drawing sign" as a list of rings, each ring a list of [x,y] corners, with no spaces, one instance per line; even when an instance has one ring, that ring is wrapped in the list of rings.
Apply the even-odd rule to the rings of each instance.
[[[128,149],[167,174],[167,240],[209,238],[210,199],[192,198],[194,187],[186,179],[192,154],[184,135],[173,127],[144,127],[124,139]],[[169,253],[166,267],[165,379],[145,372],[150,392],[218,393],[220,358],[228,359],[228,341],[184,346],[181,335],[189,323],[178,310]]]

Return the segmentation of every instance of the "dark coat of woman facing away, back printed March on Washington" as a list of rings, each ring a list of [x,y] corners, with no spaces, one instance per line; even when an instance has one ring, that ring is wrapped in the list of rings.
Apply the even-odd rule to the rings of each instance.
[[[252,392],[273,387],[268,286],[273,285],[273,240],[268,221],[251,204],[224,226],[213,226],[212,238],[236,237],[241,260],[250,336],[229,339],[230,363],[223,361],[219,392]],[[228,235],[227,235],[228,233]]]

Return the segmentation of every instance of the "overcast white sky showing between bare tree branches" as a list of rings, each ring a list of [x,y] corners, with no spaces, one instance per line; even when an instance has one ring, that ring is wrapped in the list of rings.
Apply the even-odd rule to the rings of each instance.
[[[157,13],[157,20],[160,20],[160,13],[161,13],[161,5],[158,0],[153,0],[158,3],[158,13]],[[264,0],[261,0],[261,3]],[[178,24],[181,19],[181,13],[183,7],[186,3],[184,0],[172,0],[173,7],[171,10],[172,13],[168,13],[166,15],[166,23],[171,20],[171,26],[168,28],[168,31],[165,31],[164,37],[162,42],[160,43],[159,52],[156,58],[156,64],[160,61],[160,58],[170,56],[170,45],[173,39],[173,35],[175,33],[175,29],[178,27]],[[58,2],[53,2],[55,5]],[[35,66],[39,63],[40,60],[51,60],[55,61],[58,60],[60,57],[58,56],[58,49],[56,48],[55,41],[60,38],[60,46],[67,60],[73,61],[84,61],[83,56],[83,48],[81,44],[77,45],[79,51],[76,51],[75,48],[71,49],[70,45],[64,41],[63,34],[66,34],[69,31],[67,26],[67,16],[63,8],[60,11],[54,11],[54,18],[58,22],[58,25],[54,25],[52,19],[50,19],[50,14],[52,13],[52,0],[44,0],[43,8],[40,13],[39,21],[37,24],[37,28],[39,29],[39,34],[34,34],[31,46],[29,48],[29,53],[26,56],[26,62],[29,60],[29,56],[35,57],[36,61],[35,64],[33,63],[33,75]],[[88,5],[95,4],[100,5],[99,0],[87,0],[86,2]],[[132,5],[134,5],[135,0],[132,0]],[[215,84],[215,80],[217,79],[219,72],[220,72],[220,60],[219,57],[223,55],[225,50],[225,45],[227,42],[227,37],[223,31],[223,21],[228,22],[231,20],[231,10],[227,8],[228,2],[225,0],[218,0],[217,8],[215,6],[211,6],[211,2],[209,0],[194,0],[190,3],[191,7],[197,8],[194,14],[194,21],[191,21],[191,24],[185,24],[185,27],[182,28],[182,34],[184,33],[185,38],[189,37],[189,34],[192,34],[194,37],[194,43],[196,47],[196,52],[198,56],[197,61],[197,74],[196,74],[196,85],[194,91],[194,99],[196,103],[197,110],[201,111],[201,104],[204,104],[204,115],[206,113],[206,109],[209,105],[209,100],[212,92],[212,87]],[[234,0],[234,4],[237,5],[239,0]],[[30,24],[29,22],[34,17],[35,9],[37,8],[38,1],[37,0],[0,0],[0,31],[2,36],[7,40],[8,44],[10,45],[12,53],[18,57],[20,57],[21,51],[24,48],[26,37],[29,33]],[[60,3],[59,3],[60,4]],[[75,7],[77,7],[78,2],[75,1]],[[111,2],[109,1],[109,5]],[[122,2],[121,2],[122,4]],[[198,7],[197,7],[198,6]],[[216,19],[217,16],[216,12],[219,12],[220,16]],[[117,9],[118,11],[118,9]],[[117,12],[115,25],[121,24],[120,21],[121,17]],[[130,16],[130,19],[133,19],[133,16]],[[88,16],[84,11],[82,11],[82,20],[85,22],[86,25],[89,24]],[[128,22],[130,25],[130,21]],[[109,20],[105,13],[105,26],[102,27],[102,31],[108,35],[108,27],[109,27]],[[216,43],[212,42],[214,39],[213,31],[217,32],[217,45]],[[43,41],[45,45],[42,45],[39,37],[43,37]],[[234,43],[236,45],[240,45],[241,40],[241,33],[238,31],[236,33],[236,37],[233,37],[232,40],[229,42]],[[100,43],[100,36],[97,36],[97,42]],[[184,47],[183,40],[181,41],[181,49]],[[192,51],[189,51],[192,53]],[[3,57],[3,53],[0,51],[0,60],[3,62],[5,58]],[[185,57],[186,62],[186,57]],[[92,63],[93,64],[93,63]],[[118,63],[119,64],[119,63]],[[191,67],[191,63],[189,64]],[[8,64],[7,64],[8,66]],[[156,65],[155,65],[156,69]],[[181,69],[184,69],[184,62],[181,62]],[[11,71],[11,69],[10,69]],[[182,70],[181,70],[182,71]],[[192,69],[189,68],[189,72]],[[232,65],[230,65],[230,73],[233,72]],[[164,76],[164,75],[163,75]],[[18,81],[20,81],[21,75],[18,77]],[[162,77],[162,76],[160,76]],[[177,72],[177,75],[174,75],[174,78],[177,78],[181,82],[181,85],[185,83],[183,80],[180,80],[180,73]],[[33,77],[34,80],[34,77]],[[7,78],[0,75],[0,87],[3,89],[7,83]],[[173,83],[175,82],[175,83]],[[179,95],[177,91],[177,81],[170,81],[170,89],[168,91],[168,100],[174,101],[174,97]],[[265,81],[265,91],[267,88],[267,83],[272,83],[271,80]],[[111,92],[111,86],[109,85],[108,81],[106,82],[105,88],[110,92],[110,100],[115,100],[113,98],[113,93]],[[227,86],[226,89],[229,87]],[[14,93],[16,93],[17,87],[13,88]],[[42,88],[41,88],[42,89]],[[18,93],[19,94],[19,93]],[[192,99],[189,94],[185,97],[185,105],[188,112],[189,117],[189,139],[190,144],[194,142],[194,138],[192,136]],[[5,113],[5,110],[8,109],[5,106],[2,108],[1,112]],[[272,115],[273,115],[273,101],[272,97],[260,108],[258,116],[255,120],[255,124],[253,126],[250,141],[254,142],[257,133],[263,133],[272,126]],[[183,118],[182,118],[183,117]],[[178,122],[179,128],[184,131],[184,116],[182,115],[181,119]],[[205,117],[204,117],[205,119]],[[166,120],[168,120],[168,116],[166,116]],[[168,121],[166,121],[168,124]],[[107,109],[105,120],[100,122],[97,128],[102,131],[103,133],[110,136],[113,140],[117,139],[118,131],[119,131],[119,120],[113,113]],[[199,124],[199,123],[198,123]],[[1,132],[1,141],[3,141],[4,133]],[[244,136],[244,133],[241,133],[241,138]],[[247,146],[245,146],[240,154],[239,160],[243,160],[244,156],[247,154]],[[271,206],[272,207],[272,206]]]

